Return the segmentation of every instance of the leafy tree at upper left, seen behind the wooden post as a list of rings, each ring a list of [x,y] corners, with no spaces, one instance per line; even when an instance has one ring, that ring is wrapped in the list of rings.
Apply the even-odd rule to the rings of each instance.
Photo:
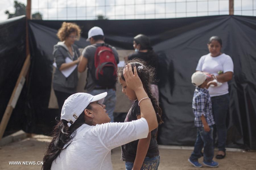
[[[16,16],[26,15],[26,6],[23,3],[14,1],[15,13],[11,14],[8,10],[5,11],[5,14],[8,15],[8,18],[13,18]],[[42,14],[39,12],[32,14],[32,19],[42,20]]]

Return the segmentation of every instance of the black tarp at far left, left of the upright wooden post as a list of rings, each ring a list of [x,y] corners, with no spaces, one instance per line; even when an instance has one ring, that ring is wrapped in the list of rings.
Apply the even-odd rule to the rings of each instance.
[[[0,120],[3,117],[26,58],[26,18],[15,17],[0,22]],[[4,135],[24,128],[26,88],[20,94]]]

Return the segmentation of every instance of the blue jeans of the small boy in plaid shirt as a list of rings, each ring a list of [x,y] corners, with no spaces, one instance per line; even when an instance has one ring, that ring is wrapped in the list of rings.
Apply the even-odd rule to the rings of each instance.
[[[214,156],[213,146],[213,126],[210,126],[210,131],[206,132],[204,127],[197,128],[197,140],[195,142],[194,151],[190,156],[191,161],[197,161],[202,155],[201,151],[204,148],[204,162],[212,162]]]

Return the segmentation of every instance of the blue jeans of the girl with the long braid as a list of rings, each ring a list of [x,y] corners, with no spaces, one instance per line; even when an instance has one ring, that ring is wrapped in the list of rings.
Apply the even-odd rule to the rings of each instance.
[[[153,158],[145,157],[141,170],[154,169],[157,170],[160,163],[160,156],[155,156]],[[125,170],[133,169],[133,162],[125,162]]]

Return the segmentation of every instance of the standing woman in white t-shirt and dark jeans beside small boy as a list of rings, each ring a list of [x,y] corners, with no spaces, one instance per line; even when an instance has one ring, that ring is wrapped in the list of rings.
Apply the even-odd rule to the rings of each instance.
[[[220,51],[222,40],[219,37],[210,37],[207,45],[210,53],[199,59],[196,70],[211,74],[211,80],[215,79],[218,84],[218,86],[210,86],[208,90],[218,134],[219,151],[216,158],[222,159],[226,156],[226,115],[229,107],[228,81],[232,79],[234,64],[230,56]]]

